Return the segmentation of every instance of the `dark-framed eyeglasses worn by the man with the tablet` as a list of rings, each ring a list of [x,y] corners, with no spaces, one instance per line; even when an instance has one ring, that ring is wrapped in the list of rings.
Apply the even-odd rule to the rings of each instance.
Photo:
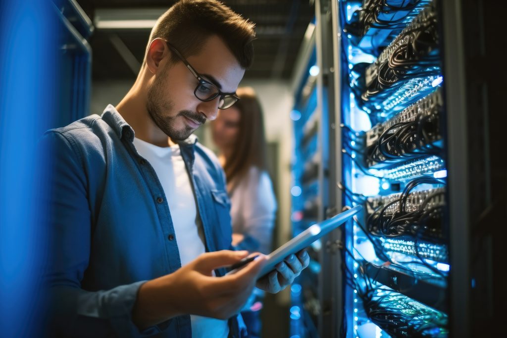
[[[176,54],[176,56],[182,60],[183,63],[187,66],[187,68],[194,74],[195,78],[199,81],[197,87],[195,87],[194,95],[199,100],[207,102],[211,101],[217,96],[220,96],[219,99],[219,109],[227,109],[236,103],[239,100],[239,97],[235,95],[235,93],[222,93],[218,87],[213,85],[212,83],[204,80],[201,75],[190,65],[190,63],[183,57],[182,54],[178,52],[176,48],[171,46],[171,44],[167,43],[167,46]]]

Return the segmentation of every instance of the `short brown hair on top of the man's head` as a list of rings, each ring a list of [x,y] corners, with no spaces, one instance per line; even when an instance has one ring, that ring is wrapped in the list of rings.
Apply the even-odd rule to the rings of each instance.
[[[181,0],[162,14],[150,34],[150,44],[160,37],[185,57],[199,53],[211,35],[221,37],[241,67],[253,62],[255,24],[216,0]],[[145,59],[146,61],[146,59]],[[172,55],[171,61],[178,61]]]

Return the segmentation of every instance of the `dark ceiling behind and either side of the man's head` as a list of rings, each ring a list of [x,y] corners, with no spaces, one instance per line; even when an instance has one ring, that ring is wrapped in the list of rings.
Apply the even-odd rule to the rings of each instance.
[[[77,0],[92,22],[104,13],[130,18],[163,13],[173,0]],[[308,24],[314,17],[312,0],[224,0],[227,6],[256,23],[255,58],[245,79],[289,79]],[[113,10],[113,11],[111,11]],[[117,14],[118,16],[122,14]],[[136,18],[137,19],[137,18]],[[148,43],[150,28],[95,27],[89,39],[93,52],[92,78],[134,80]]]

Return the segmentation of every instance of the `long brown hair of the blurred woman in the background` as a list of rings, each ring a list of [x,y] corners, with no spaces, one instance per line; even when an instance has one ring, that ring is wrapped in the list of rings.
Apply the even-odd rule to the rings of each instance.
[[[238,138],[224,166],[227,182],[233,182],[232,189],[249,168],[257,167],[260,171],[267,170],[266,137],[261,103],[251,87],[238,88],[236,95],[240,98],[234,104],[240,113]]]

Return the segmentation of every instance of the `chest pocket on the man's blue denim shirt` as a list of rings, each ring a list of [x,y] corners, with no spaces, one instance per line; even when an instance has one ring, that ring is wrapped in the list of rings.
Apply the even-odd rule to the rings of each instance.
[[[211,222],[211,227],[216,229],[220,240],[218,240],[217,250],[230,249],[232,241],[232,223],[231,223],[231,201],[229,195],[224,190],[211,190],[213,196],[213,206],[215,209],[215,219]]]

